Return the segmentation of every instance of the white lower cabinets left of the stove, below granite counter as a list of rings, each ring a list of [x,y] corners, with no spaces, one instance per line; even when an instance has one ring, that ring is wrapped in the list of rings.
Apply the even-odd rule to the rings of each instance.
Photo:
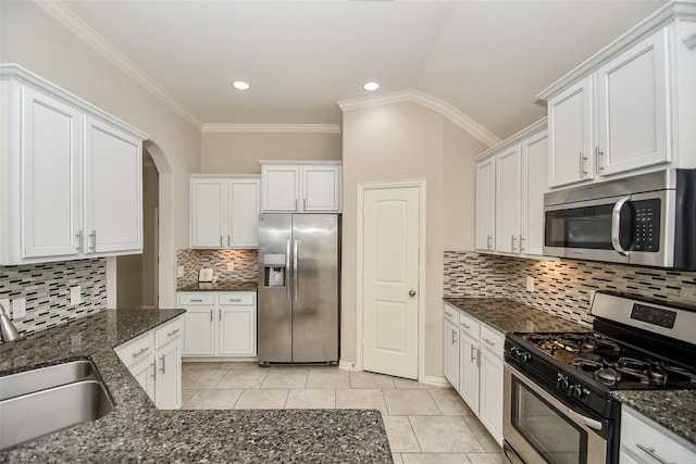
[[[449,316],[449,314],[456,314]],[[481,321],[445,303],[445,360],[446,371],[452,354],[447,354],[452,319],[459,321],[457,377],[445,376],[459,396],[478,417],[488,432],[502,446],[502,348],[505,335]],[[453,363],[453,362],[452,362]],[[457,378],[458,381],[452,381]]]

